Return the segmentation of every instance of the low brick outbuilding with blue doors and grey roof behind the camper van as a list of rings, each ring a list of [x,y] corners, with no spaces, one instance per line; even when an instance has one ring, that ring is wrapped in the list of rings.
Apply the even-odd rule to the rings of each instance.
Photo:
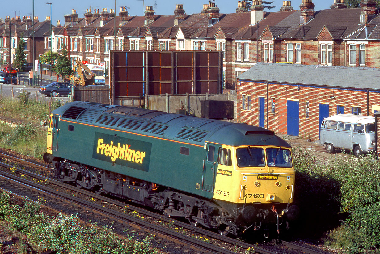
[[[325,117],[380,110],[380,69],[259,62],[238,76],[237,120],[319,139]]]

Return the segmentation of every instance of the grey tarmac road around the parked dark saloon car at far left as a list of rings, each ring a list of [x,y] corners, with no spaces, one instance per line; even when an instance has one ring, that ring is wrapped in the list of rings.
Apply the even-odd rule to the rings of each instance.
[[[42,80],[41,77],[39,77],[40,80],[38,81],[38,85],[36,86],[29,86],[29,72],[19,72],[19,82],[20,85],[0,85],[2,89],[2,96],[3,97],[12,97],[12,88],[13,88],[13,97],[16,98],[19,93],[22,93],[23,90],[30,92],[29,98],[30,99],[36,99],[36,96],[38,96],[38,101],[50,101],[50,96],[46,96],[43,94],[40,94],[38,92],[40,86],[45,86],[50,84],[50,76],[49,75],[43,75]],[[52,77],[52,82],[57,81],[57,77]],[[59,81],[62,81],[60,79]],[[24,85],[25,84],[25,85]],[[57,96],[53,97],[52,100],[55,101],[63,101],[68,102],[70,101],[70,98],[68,96]]]

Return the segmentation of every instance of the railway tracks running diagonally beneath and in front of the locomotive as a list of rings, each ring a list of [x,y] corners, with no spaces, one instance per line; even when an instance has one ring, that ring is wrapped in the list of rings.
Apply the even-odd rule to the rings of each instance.
[[[7,160],[16,161],[17,163],[27,164],[29,167],[32,167],[35,169],[48,170],[46,167],[44,167],[42,165],[38,165],[38,164],[35,164],[33,162],[30,162],[30,161],[26,161],[23,159],[12,157],[12,156],[6,155],[4,153],[0,153],[0,156],[6,158]],[[33,182],[28,181],[28,182],[30,182],[30,184],[32,185],[32,188],[34,188],[34,189],[40,189],[40,187],[43,187],[41,189],[44,189],[44,188],[49,189],[49,191],[46,191],[46,190],[44,190],[44,191],[50,193],[50,196],[54,196],[54,198],[57,198],[57,196],[60,196],[62,200],[72,200],[70,202],[73,202],[73,203],[75,202],[76,205],[74,205],[73,207],[71,207],[71,206],[69,207],[68,205],[63,205],[63,207],[65,207],[65,206],[68,207],[66,209],[68,214],[75,214],[75,213],[81,214],[81,212],[83,210],[85,210],[84,212],[82,212],[84,214],[84,217],[89,216],[89,213],[94,213],[95,216],[93,216],[93,217],[95,217],[95,221],[96,221],[96,218],[108,217],[108,223],[110,223],[111,221],[116,221],[117,223],[120,224],[120,226],[117,225],[117,227],[115,227],[116,229],[118,227],[122,228],[123,227],[122,225],[126,224],[127,221],[130,221],[130,223],[139,225],[139,226],[136,226],[136,229],[134,229],[134,230],[143,230],[145,228],[145,226],[148,227],[148,226],[152,225],[152,223],[142,223],[144,221],[142,221],[141,219],[138,219],[138,218],[133,217],[133,216],[128,216],[125,213],[120,212],[120,209],[127,208],[129,211],[132,211],[132,214],[134,212],[138,212],[138,214],[140,215],[139,217],[141,217],[141,215],[142,216],[149,216],[149,217],[154,218],[156,220],[160,220],[160,222],[162,222],[162,223],[170,224],[170,225],[172,225],[173,228],[184,228],[186,230],[191,230],[192,232],[195,232],[199,235],[203,235],[204,236],[203,239],[213,239],[213,244],[210,244],[210,243],[206,243],[205,241],[198,240],[194,237],[186,236],[184,234],[174,232],[173,230],[167,230],[167,229],[163,230],[163,231],[166,231],[165,233],[162,233],[163,235],[160,235],[160,233],[158,233],[158,232],[160,232],[163,228],[159,227],[159,226],[150,228],[150,230],[145,231],[145,233],[143,235],[146,235],[147,233],[151,233],[151,234],[156,235],[156,237],[159,237],[161,239],[173,238],[173,239],[171,239],[172,242],[167,244],[167,246],[176,244],[177,248],[176,248],[175,252],[169,252],[169,253],[177,253],[177,251],[179,251],[178,246],[180,246],[180,245],[184,246],[182,248],[189,248],[191,250],[183,249],[182,251],[184,251],[184,252],[178,252],[178,253],[185,253],[186,252],[189,254],[193,253],[192,251],[196,251],[195,253],[236,253],[234,251],[231,251],[231,249],[236,251],[238,249],[239,250],[247,250],[249,248],[254,249],[255,253],[262,253],[262,254],[281,253],[278,251],[271,251],[268,249],[264,249],[264,248],[258,247],[256,245],[244,243],[243,241],[239,241],[239,240],[229,238],[226,236],[221,236],[217,233],[211,232],[209,230],[205,230],[205,229],[200,228],[200,227],[194,227],[188,223],[184,223],[184,222],[181,222],[179,220],[173,220],[173,219],[167,218],[165,216],[160,216],[159,214],[157,214],[155,212],[147,211],[146,209],[142,209],[142,208],[139,208],[137,206],[132,206],[132,205],[126,206],[126,203],[124,203],[124,202],[114,200],[114,199],[108,198],[106,196],[96,195],[93,192],[89,192],[89,191],[83,190],[83,189],[78,189],[77,187],[74,187],[71,185],[63,184],[63,183],[61,183],[59,181],[55,181],[54,179],[51,179],[49,177],[45,177],[45,176],[42,176],[40,174],[35,174],[35,173],[30,172],[30,171],[25,170],[25,169],[14,167],[12,165],[9,165],[8,163],[0,162],[0,166],[6,167],[6,168],[16,169],[19,173],[28,175],[28,176],[33,177],[35,179],[39,179],[40,181],[49,182],[49,183],[57,185],[59,187],[68,189],[72,192],[77,192],[77,193],[81,193],[82,195],[89,196],[93,200],[99,200],[100,202],[111,204],[112,206],[116,207],[116,210],[119,210],[119,211],[115,211],[114,209],[106,208],[106,207],[103,207],[101,205],[94,204],[94,203],[86,201],[86,200],[82,200],[82,199],[75,197],[71,194],[66,195],[66,193],[58,192],[58,191],[52,190],[51,188],[47,188],[45,186],[35,184]],[[15,176],[8,175],[5,177],[11,178],[11,177],[15,177]],[[17,182],[22,182],[23,180],[24,179],[21,179],[21,178],[17,178],[17,180],[14,179],[14,181],[17,181]],[[19,188],[19,189],[21,189],[21,188]],[[91,207],[89,207],[89,206],[91,206]],[[78,209],[82,209],[82,210],[79,211]],[[135,216],[136,216],[136,213],[135,213]],[[91,221],[94,222],[93,219],[91,219]],[[107,223],[107,221],[103,221],[103,222]],[[145,224],[149,224],[149,225],[145,225]],[[116,224],[114,223],[114,226],[115,225]],[[184,243],[184,241],[186,241],[186,243]],[[217,242],[218,244],[215,245],[215,242]],[[185,247],[185,246],[187,246],[187,247]],[[218,247],[218,246],[223,246],[223,247],[225,246],[225,248]],[[297,244],[289,243],[286,241],[282,241],[282,246],[284,246],[286,248],[302,251],[304,253],[309,253],[309,254],[326,253],[326,252],[315,251],[313,249],[305,248],[305,247],[299,246]],[[215,248],[215,247],[217,247],[217,248]],[[210,248],[210,249],[208,249],[208,248]]]

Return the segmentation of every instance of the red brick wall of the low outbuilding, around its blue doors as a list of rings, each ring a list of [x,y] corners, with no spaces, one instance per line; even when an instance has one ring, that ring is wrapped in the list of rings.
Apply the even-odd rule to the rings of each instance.
[[[242,109],[242,95],[251,96],[251,110]],[[334,99],[330,96],[334,95]],[[241,81],[237,86],[237,121],[258,125],[258,97],[265,97],[265,127],[276,133],[287,134],[287,100],[299,100],[299,136],[318,139],[319,104],[329,105],[329,116],[337,114],[337,104],[345,106],[345,113],[351,113],[351,106],[361,107],[361,114],[367,115],[367,92],[332,88],[315,88],[295,85],[269,84],[267,114],[266,83]],[[275,113],[271,112],[271,97],[275,99]],[[309,118],[305,117],[305,101],[309,101]],[[380,93],[369,93],[369,106],[379,105]],[[247,105],[246,99],[246,105]],[[268,115],[268,122],[267,122]],[[369,115],[373,115],[371,110]]]

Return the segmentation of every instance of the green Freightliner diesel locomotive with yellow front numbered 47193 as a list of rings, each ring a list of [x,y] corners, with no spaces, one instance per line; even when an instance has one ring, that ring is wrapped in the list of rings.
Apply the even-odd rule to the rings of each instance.
[[[256,126],[70,102],[51,113],[44,160],[62,182],[222,235],[278,229],[298,216],[291,147]]]

